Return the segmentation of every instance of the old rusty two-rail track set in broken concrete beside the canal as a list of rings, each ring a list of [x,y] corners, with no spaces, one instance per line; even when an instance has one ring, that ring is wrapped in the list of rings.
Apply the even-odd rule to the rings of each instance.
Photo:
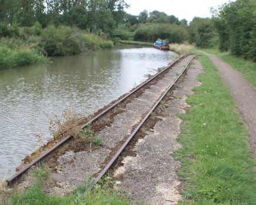
[[[191,60],[191,55],[182,56],[82,125],[81,129],[91,126],[97,135],[103,137],[101,146],[77,141],[69,135],[6,182],[12,184],[31,166],[45,161],[52,169],[52,177],[62,182],[82,184],[89,176],[94,176],[95,180],[88,189],[91,190],[182,76]],[[79,148],[74,149],[76,146]]]

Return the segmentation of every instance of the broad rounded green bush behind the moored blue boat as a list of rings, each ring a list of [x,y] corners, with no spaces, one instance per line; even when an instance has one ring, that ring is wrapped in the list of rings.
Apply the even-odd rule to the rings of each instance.
[[[160,38],[168,39],[169,43],[182,43],[188,40],[188,35],[187,28],[182,25],[148,23],[135,30],[134,40],[155,42]]]

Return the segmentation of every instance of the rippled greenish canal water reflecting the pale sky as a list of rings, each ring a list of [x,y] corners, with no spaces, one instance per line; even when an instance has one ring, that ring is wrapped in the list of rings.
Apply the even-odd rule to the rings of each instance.
[[[92,114],[176,57],[151,47],[119,45],[0,70],[0,179],[14,173],[21,159],[41,145],[36,136],[52,137],[51,118],[67,109]]]

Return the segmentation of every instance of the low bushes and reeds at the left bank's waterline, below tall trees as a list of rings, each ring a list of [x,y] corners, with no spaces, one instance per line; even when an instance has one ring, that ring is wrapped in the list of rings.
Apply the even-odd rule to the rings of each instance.
[[[68,56],[114,46],[104,33],[97,36],[75,27],[49,25],[42,29],[37,22],[31,28],[18,28],[17,33],[14,30],[8,33],[14,37],[0,39],[0,69],[47,62],[46,56]]]

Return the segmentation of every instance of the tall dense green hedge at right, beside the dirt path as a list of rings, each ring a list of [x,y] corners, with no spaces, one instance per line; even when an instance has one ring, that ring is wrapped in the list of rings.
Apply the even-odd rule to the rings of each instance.
[[[256,61],[256,1],[237,0],[223,5],[215,14],[220,50]]]

